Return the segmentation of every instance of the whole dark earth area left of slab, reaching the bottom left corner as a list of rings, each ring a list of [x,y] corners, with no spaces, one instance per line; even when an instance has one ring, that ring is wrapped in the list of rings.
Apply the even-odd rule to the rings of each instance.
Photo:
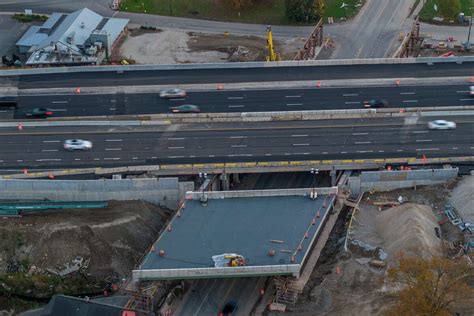
[[[150,203],[110,201],[103,209],[2,219],[0,315],[46,304],[58,293],[94,296],[112,284],[120,288],[169,216]],[[77,256],[90,260],[88,267],[55,275]]]

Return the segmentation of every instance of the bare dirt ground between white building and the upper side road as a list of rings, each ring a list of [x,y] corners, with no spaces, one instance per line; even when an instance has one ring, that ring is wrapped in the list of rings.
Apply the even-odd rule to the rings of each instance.
[[[203,34],[180,30],[131,30],[120,48],[123,58],[138,64],[182,64],[264,61],[266,37]],[[283,60],[292,60],[305,39],[275,41]]]

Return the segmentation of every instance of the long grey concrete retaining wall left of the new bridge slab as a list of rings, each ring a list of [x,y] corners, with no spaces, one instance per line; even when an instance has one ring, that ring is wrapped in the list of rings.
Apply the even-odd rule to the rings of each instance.
[[[0,200],[55,201],[142,200],[170,209],[178,207],[193,182],[178,178],[122,180],[0,180]]]

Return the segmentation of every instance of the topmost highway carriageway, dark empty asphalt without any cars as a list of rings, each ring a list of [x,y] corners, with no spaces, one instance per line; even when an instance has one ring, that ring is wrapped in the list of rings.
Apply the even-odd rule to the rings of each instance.
[[[186,66],[185,66],[186,67]],[[6,77],[18,80],[20,89],[57,87],[97,87],[121,85],[169,85],[299,80],[428,78],[472,76],[474,62],[331,66],[280,66],[245,68],[199,68],[113,72],[68,72]]]

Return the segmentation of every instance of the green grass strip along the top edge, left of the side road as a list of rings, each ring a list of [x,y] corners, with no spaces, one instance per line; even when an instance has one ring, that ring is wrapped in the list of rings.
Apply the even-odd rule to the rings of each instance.
[[[365,0],[361,0],[365,2]],[[258,23],[271,25],[291,24],[285,16],[284,0],[263,1],[249,9],[239,12],[225,4],[216,4],[216,0],[123,0],[120,10],[137,13],[149,13],[167,16],[181,16],[218,21]],[[344,0],[349,4],[340,9],[343,0],[327,0],[326,16],[336,21],[341,17],[352,17],[360,8],[355,4],[360,0]],[[222,30],[225,31],[225,30]]]

